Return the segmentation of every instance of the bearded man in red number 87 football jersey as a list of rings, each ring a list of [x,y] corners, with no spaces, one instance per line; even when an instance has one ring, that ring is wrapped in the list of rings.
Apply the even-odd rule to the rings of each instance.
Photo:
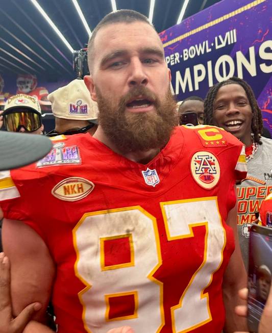
[[[14,315],[35,301],[44,322],[52,298],[59,333],[244,330],[234,314],[245,286],[234,249],[242,144],[213,126],[176,126],[163,45],[145,16],[107,15],[88,63],[94,136],[56,137],[46,158],[2,183]],[[47,331],[35,325],[24,332]]]

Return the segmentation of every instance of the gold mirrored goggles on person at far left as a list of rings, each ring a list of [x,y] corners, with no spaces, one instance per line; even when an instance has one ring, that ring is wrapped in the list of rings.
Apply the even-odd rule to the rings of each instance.
[[[21,127],[27,132],[37,131],[41,126],[41,115],[30,110],[16,110],[3,114],[4,125],[8,132],[19,132]]]

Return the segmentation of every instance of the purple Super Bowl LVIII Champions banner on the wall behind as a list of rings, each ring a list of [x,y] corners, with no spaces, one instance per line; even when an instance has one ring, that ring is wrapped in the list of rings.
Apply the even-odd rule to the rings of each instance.
[[[160,33],[178,100],[238,76],[272,133],[272,1],[223,0]]]

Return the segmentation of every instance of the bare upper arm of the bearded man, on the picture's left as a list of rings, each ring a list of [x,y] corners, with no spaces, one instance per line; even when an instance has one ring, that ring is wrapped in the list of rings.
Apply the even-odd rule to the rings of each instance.
[[[46,308],[51,297],[55,264],[41,237],[21,221],[4,220],[3,248],[11,263],[11,298],[16,317],[30,303],[39,302],[41,310],[33,319],[46,322]],[[47,333],[33,322],[36,333]],[[40,327],[37,327],[40,326]],[[24,330],[33,332],[32,322]]]

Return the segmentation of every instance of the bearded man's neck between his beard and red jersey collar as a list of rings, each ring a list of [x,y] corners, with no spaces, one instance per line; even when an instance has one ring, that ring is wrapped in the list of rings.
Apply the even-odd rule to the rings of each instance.
[[[123,152],[120,149],[118,149],[118,147],[116,147],[116,145],[105,135],[101,126],[97,127],[97,130],[94,133],[93,137],[96,140],[104,143],[107,147],[109,147],[114,152],[116,152],[119,155],[127,158],[128,160],[131,160],[136,163],[147,164],[152,159],[154,159],[154,157],[157,156],[158,153],[160,152],[160,148],[154,148],[154,149],[149,149],[149,150],[145,150],[145,151]]]

